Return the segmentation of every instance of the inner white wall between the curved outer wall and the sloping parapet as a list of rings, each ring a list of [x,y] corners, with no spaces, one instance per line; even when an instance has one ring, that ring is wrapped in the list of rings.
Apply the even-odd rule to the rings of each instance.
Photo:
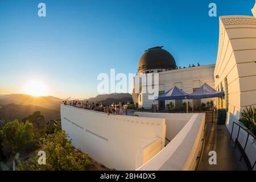
[[[169,140],[180,132],[181,129],[188,123],[189,119],[193,116],[192,113],[145,113],[135,112],[134,115],[139,117],[150,117],[150,118],[165,118],[166,119],[166,138]],[[168,143],[166,141],[166,143]]]

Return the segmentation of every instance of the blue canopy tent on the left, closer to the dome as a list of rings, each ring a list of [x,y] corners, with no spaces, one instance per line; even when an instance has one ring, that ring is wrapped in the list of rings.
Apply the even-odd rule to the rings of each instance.
[[[183,92],[181,89],[177,88],[177,86],[174,86],[170,90],[168,90],[166,93],[160,95],[158,98],[156,98],[156,101],[159,100],[183,100],[187,99],[187,93]]]

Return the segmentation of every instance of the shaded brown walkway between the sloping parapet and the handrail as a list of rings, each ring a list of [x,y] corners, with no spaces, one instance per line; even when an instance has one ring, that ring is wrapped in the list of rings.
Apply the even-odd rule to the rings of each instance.
[[[216,119],[214,119],[216,120]],[[234,142],[230,141],[230,135],[225,125],[217,125],[216,121],[210,123],[207,121],[207,130],[205,137],[205,146],[203,156],[201,159],[200,171],[224,171],[224,170],[247,170],[246,164],[242,159],[239,162],[241,153],[236,147],[234,150]],[[216,151],[217,164],[210,165],[208,160],[210,158],[209,151]]]

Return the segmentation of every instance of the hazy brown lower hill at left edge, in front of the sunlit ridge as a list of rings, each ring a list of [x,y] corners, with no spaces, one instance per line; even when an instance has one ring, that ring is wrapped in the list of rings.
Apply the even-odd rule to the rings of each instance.
[[[0,106],[0,120],[13,121],[14,119],[19,119],[19,121],[22,121],[23,118],[34,113],[34,111],[40,111],[46,121],[60,118],[60,111],[58,110],[46,109],[35,105],[8,104]]]

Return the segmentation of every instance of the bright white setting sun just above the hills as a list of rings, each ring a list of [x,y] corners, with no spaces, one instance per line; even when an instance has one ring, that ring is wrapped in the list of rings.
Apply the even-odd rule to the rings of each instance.
[[[30,81],[24,85],[24,93],[31,96],[47,96],[47,86],[40,81]]]

